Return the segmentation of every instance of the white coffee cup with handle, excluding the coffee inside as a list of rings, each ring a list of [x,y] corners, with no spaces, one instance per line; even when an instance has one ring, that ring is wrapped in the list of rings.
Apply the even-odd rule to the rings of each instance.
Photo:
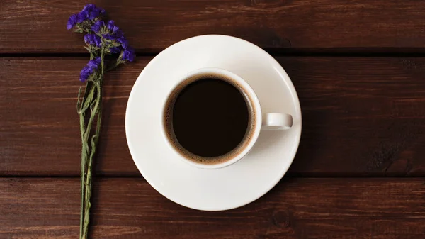
[[[292,127],[293,117],[290,114],[281,112],[263,113],[263,111],[261,111],[261,104],[254,89],[252,89],[249,84],[242,79],[242,77],[220,68],[201,68],[188,72],[176,82],[176,85],[169,92],[169,97],[171,97],[171,94],[174,94],[176,89],[181,87],[183,84],[186,84],[186,82],[196,79],[198,76],[205,75],[220,76],[222,79],[231,80],[232,84],[237,84],[239,90],[245,96],[247,104],[251,104],[251,111],[254,111],[254,118],[252,119],[254,125],[251,126],[249,135],[242,140],[242,143],[239,145],[240,147],[238,146],[239,148],[237,148],[237,150],[232,150],[228,154],[219,157],[200,157],[193,155],[191,152],[182,148],[181,145],[179,146],[177,140],[168,138],[169,140],[166,140],[166,142],[169,144],[169,147],[176,150],[182,156],[181,159],[189,165],[199,167],[201,169],[219,169],[227,167],[241,160],[246,154],[248,154],[256,143],[256,140],[259,138],[261,130],[288,130]],[[164,105],[164,109],[168,107],[169,106],[167,104]],[[165,110],[163,118],[166,118]],[[169,133],[166,133],[165,131],[169,126],[166,126],[165,124],[166,123],[164,123],[164,134],[167,135]],[[203,160],[203,158],[205,158],[205,160]]]

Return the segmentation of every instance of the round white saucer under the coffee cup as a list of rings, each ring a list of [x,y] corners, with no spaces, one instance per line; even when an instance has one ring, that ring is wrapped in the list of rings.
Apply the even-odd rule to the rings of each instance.
[[[166,146],[162,112],[168,92],[187,72],[217,67],[246,80],[263,113],[290,113],[290,130],[262,131],[246,157],[222,169],[188,165]],[[171,45],[149,62],[132,88],[125,115],[128,147],[143,177],[160,194],[192,209],[234,209],[258,199],[288,170],[301,136],[301,109],[288,74],[256,45],[201,35]]]

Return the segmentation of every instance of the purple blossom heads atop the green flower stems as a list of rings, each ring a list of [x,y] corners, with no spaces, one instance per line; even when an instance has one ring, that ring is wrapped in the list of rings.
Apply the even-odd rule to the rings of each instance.
[[[84,42],[93,59],[81,70],[81,82],[90,80],[91,75],[100,70],[99,65],[103,61],[100,55],[120,53],[114,67],[135,59],[135,50],[128,45],[123,31],[115,26],[114,21],[103,21],[104,15],[105,10],[88,4],[81,12],[69,17],[67,29],[74,28],[76,32],[86,34]]]

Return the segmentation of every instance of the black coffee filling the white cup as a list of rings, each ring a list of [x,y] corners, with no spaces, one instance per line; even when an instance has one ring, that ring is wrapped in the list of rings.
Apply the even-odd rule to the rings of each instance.
[[[179,87],[178,87],[179,88]],[[177,89],[166,108],[171,143],[195,161],[222,162],[251,131],[251,104],[232,81],[203,77]]]

